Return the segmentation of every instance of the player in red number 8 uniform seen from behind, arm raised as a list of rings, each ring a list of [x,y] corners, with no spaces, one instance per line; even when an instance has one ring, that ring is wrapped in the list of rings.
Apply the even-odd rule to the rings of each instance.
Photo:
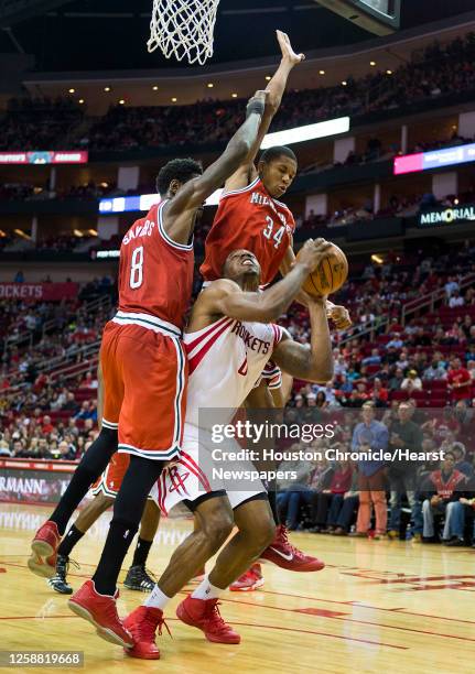
[[[163,200],[122,239],[119,311],[104,330],[100,363],[105,384],[102,430],[84,455],[62,502],[36,533],[32,550],[53,565],[65,520],[117,449],[130,454],[98,564],[68,601],[112,643],[130,646],[116,607],[116,584],[147,497],[164,463],[176,457],[183,435],[187,362],[182,328],[193,283],[193,229],[205,199],[231,175],[256,142],[266,94],[248,104],[247,119],[222,156],[202,173],[193,160],[174,160],[158,178]]]

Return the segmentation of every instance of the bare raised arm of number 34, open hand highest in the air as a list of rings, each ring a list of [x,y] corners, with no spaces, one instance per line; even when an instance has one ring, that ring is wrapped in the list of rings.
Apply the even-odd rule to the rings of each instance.
[[[282,52],[282,59],[272,79],[266,87],[268,98],[266,101],[266,110],[260,122],[259,133],[256,141],[252,143],[245,161],[240,164],[238,170],[226,181],[225,191],[231,192],[233,189],[240,189],[246,187],[256,177],[255,160],[259,152],[259,148],[262,144],[262,140],[266,133],[269,131],[269,127],[276,112],[280,108],[283,93],[285,91],[287,81],[289,75],[299,63],[305,58],[303,54],[296,54],[289,40],[289,35],[282,31],[276,31],[279,46]]]

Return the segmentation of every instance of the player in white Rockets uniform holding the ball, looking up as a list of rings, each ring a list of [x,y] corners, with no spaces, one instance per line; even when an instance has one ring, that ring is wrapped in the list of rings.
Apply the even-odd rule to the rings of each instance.
[[[174,552],[147,602],[126,618],[126,629],[134,639],[134,646],[126,650],[128,655],[160,657],[155,630],[163,623],[164,607],[220,548],[234,524],[238,533],[219,553],[213,570],[179,606],[176,615],[201,629],[208,641],[240,641],[220,617],[218,597],[269,545],[276,525],[262,482],[241,486],[225,477],[215,479],[210,430],[216,422],[230,424],[271,357],[299,379],[326,382],[332,378],[324,297],[309,306],[310,347],[293,341],[287,330],[272,323],[288,308],[328,246],[323,239],[307,241],[290,273],[265,292],[258,292],[257,258],[247,250],[236,250],[226,260],[224,278],[212,282],[193,307],[184,337],[190,380],[183,448],[180,459],[159,479],[156,498],[164,512],[185,501],[198,526]],[[206,409],[214,409],[209,418],[203,416]],[[240,449],[237,444],[235,447]],[[252,470],[253,466],[233,463],[233,469]]]

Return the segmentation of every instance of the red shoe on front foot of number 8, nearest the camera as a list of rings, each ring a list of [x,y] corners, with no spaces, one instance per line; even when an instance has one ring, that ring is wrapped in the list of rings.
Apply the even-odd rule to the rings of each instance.
[[[71,597],[67,606],[76,616],[94,624],[97,634],[106,641],[125,648],[132,646],[133,638],[117,615],[116,599],[118,596],[119,590],[116,590],[114,597],[99,595],[94,586],[94,580],[86,580]]]

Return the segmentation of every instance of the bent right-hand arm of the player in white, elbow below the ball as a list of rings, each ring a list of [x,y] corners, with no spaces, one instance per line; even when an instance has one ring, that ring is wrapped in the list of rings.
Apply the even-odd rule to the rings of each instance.
[[[325,300],[312,300],[309,305],[311,345],[284,336],[272,352],[272,360],[298,379],[325,383],[333,377],[332,340]]]

